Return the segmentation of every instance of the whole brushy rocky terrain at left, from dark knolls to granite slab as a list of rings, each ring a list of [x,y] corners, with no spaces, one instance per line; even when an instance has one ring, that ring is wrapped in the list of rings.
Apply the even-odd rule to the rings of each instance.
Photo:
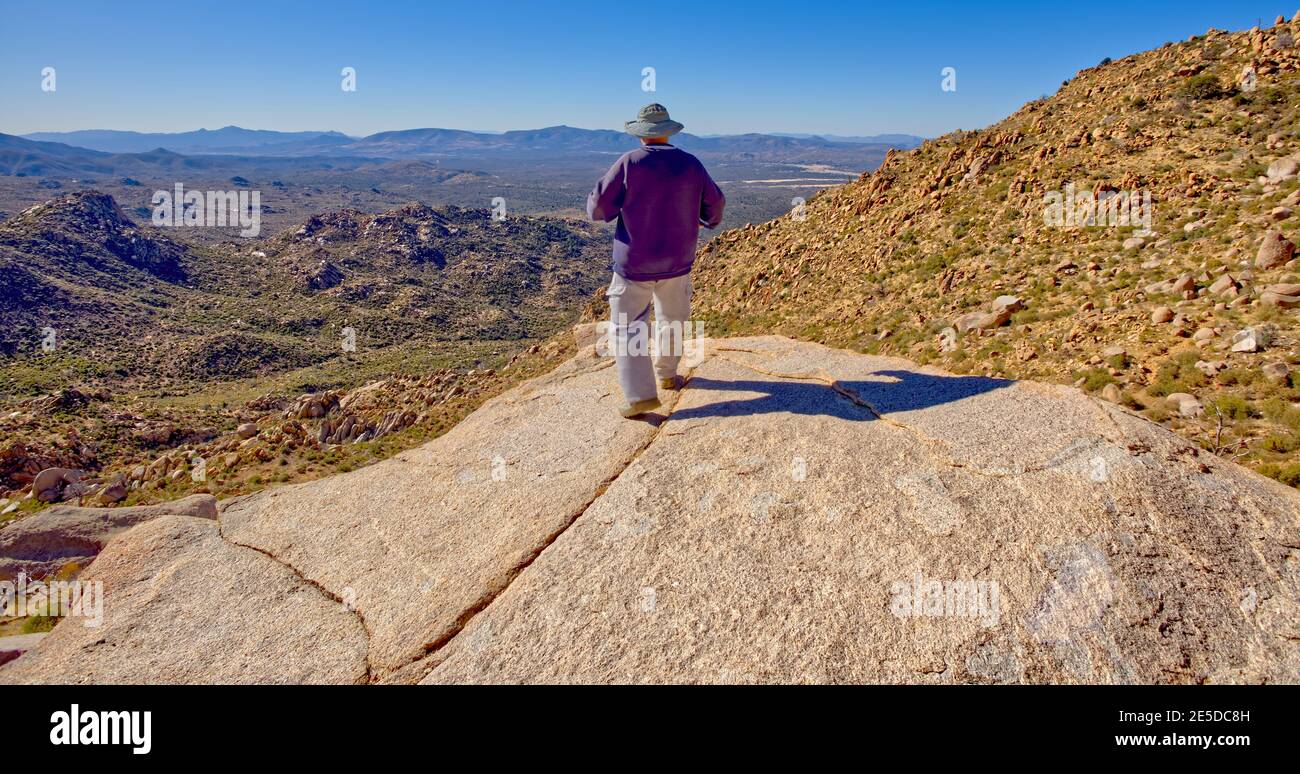
[[[95,193],[0,222],[0,520],[255,490],[428,440],[525,372],[494,375],[567,329],[608,264],[588,224],[422,204],[257,241],[185,235]],[[335,450],[302,447],[322,421],[350,421]],[[34,490],[48,468],[81,480]]]

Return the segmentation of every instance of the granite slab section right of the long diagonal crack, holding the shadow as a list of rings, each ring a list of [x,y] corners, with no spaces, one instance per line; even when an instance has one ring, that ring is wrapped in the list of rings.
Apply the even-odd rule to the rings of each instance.
[[[1273,542],[1264,570],[1248,541],[1227,537],[1242,513],[1254,513],[1252,529],[1288,540],[1300,501],[1292,490],[1244,471],[1227,484],[1228,463],[1193,457],[1164,429],[1069,389],[1034,385],[1052,393],[1039,402],[1014,384],[900,360],[771,340],[734,346],[750,351],[719,351],[694,372],[706,386],[688,388],[664,433],[425,660],[422,682],[1147,683],[1278,680],[1300,670],[1286,641],[1296,628],[1283,591],[1290,552]],[[939,384],[924,384],[928,376]],[[944,384],[952,379],[961,381]],[[818,382],[845,403],[810,408]],[[976,419],[984,411],[987,425]],[[1102,429],[1110,419],[1119,427]],[[1132,434],[1139,427],[1150,434]],[[862,459],[854,442],[880,454]],[[1149,467],[1174,449],[1184,450],[1180,472],[1169,462]],[[790,476],[792,457],[806,460],[805,476]],[[880,483],[871,497],[862,497],[864,477]],[[1286,497],[1284,527],[1219,485]],[[993,501],[1001,505],[982,505]],[[1217,548],[1232,545],[1234,558],[1271,579],[1266,606],[1277,613],[1244,613],[1242,589],[1265,592],[1218,578],[1239,571],[1234,565],[1200,565],[1214,550],[1204,539],[1191,541],[1196,555],[1165,548],[1175,537],[1157,537],[1144,524],[1152,514],[1182,535],[1223,536]],[[1093,518],[1105,527],[1087,527]],[[1011,545],[1013,555],[1002,553]],[[1139,559],[1150,553],[1160,559]],[[930,615],[916,602],[924,589],[976,574],[1017,600],[991,626]],[[1247,656],[1201,626],[1252,643],[1268,630],[1271,656]]]

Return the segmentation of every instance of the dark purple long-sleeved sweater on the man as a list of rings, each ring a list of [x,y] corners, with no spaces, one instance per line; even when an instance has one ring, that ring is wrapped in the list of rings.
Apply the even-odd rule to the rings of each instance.
[[[690,272],[699,226],[718,228],[725,196],[705,165],[672,146],[641,146],[614,163],[586,198],[592,220],[619,219],[614,272],[668,280]]]

